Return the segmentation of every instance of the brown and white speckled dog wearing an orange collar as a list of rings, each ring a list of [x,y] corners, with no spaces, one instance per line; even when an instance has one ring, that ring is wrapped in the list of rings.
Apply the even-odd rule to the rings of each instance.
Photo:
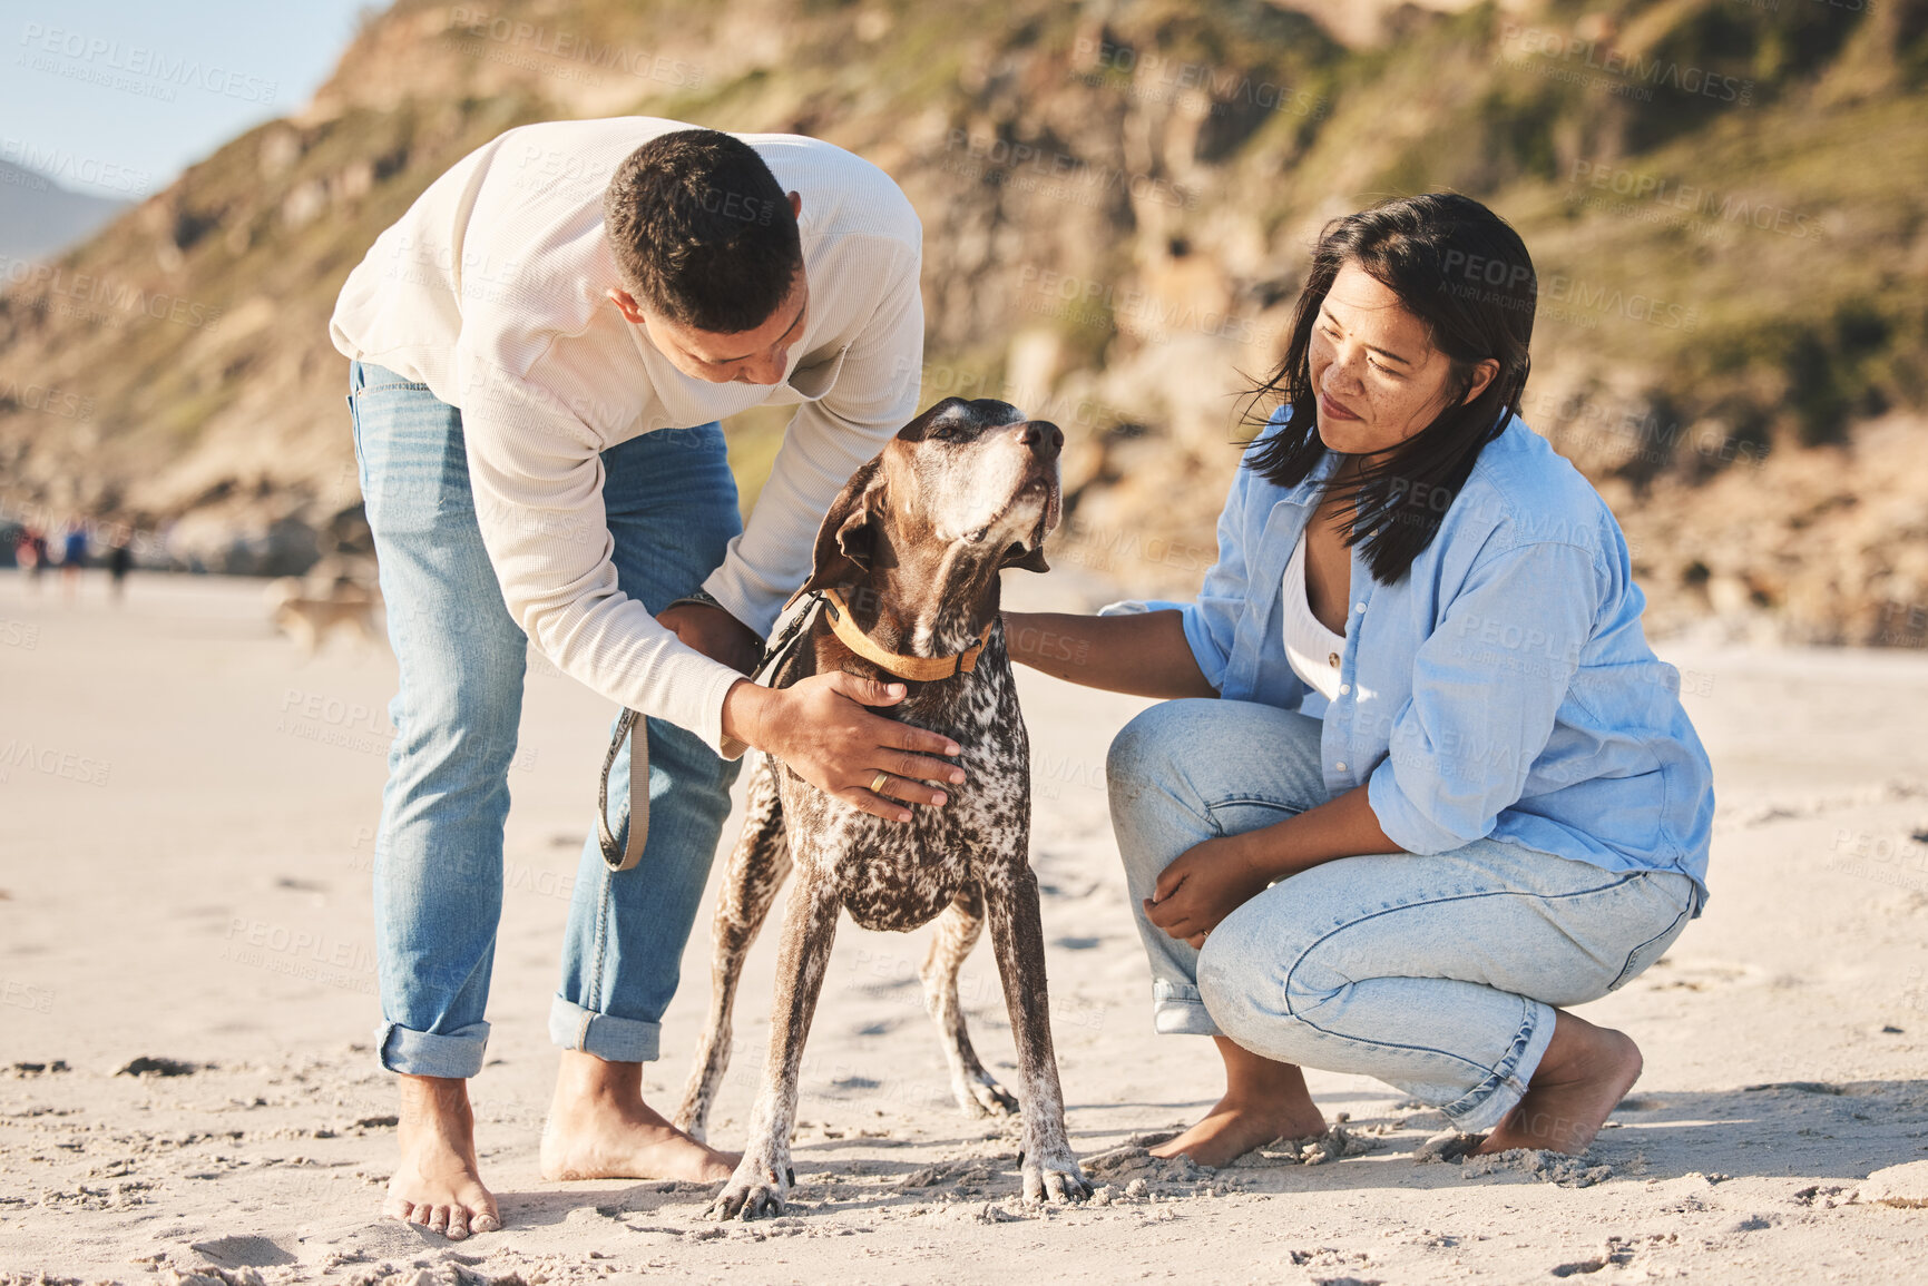
[[[945,806],[914,808],[900,823],[858,812],[767,756],[754,765],[748,817],[717,897],[710,1024],[677,1111],[698,1139],[729,1064],[744,954],[792,868],[796,883],[783,914],[763,1087],[742,1163],[710,1207],[717,1219],[781,1215],[796,1182],[796,1076],[841,910],[866,929],[937,920],[920,970],[924,995],[952,1089],[974,1114],[1018,1107],[972,1051],[958,1005],[958,968],[991,922],[1024,1082],[1024,1195],[1091,1193],[1064,1134],[1030,862],[1030,742],[997,615],[1003,569],[1047,571],[1062,445],[1057,424],[1026,420],[1016,407],[947,397],[858,469],[823,519],[798,596],[823,594],[825,605],[771,684],[831,669],[900,681],[908,696],[887,708],[891,717],[951,737],[966,779],[945,785]]]

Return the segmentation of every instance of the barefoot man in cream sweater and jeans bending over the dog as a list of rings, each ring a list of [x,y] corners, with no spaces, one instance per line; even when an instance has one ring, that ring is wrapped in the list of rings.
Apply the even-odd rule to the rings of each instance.
[[[779,754],[895,817],[949,740],[902,688],[744,681],[817,524],[916,415],[916,212],[816,139],[623,118],[513,129],[376,239],[335,307],[401,665],[374,898],[380,1058],[401,1076],[386,1211],[495,1228],[467,1078],[482,1068],[509,762],[530,644],[648,715],[640,864],[582,850],[549,1035],[546,1178],[727,1178],[642,1099],[729,814],[735,756]],[[748,528],[717,422],[796,407]],[[893,773],[891,798],[871,794]],[[611,781],[629,779],[629,752]],[[613,792],[621,794],[621,792]],[[629,816],[613,804],[617,837]]]

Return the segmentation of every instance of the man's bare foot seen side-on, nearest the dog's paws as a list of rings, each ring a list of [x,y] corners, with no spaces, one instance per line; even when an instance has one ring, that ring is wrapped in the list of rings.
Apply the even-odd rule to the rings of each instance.
[[[542,1178],[684,1178],[713,1184],[735,1153],[704,1147],[642,1101],[640,1062],[563,1051],[542,1132]]]

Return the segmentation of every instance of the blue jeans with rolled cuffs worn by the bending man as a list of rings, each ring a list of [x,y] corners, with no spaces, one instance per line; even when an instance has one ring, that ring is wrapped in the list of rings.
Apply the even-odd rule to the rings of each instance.
[[[351,366],[349,409],[401,667],[374,862],[380,1057],[391,1072],[474,1076],[528,640],[476,528],[461,411],[368,362]],[[721,428],[644,434],[602,461],[623,592],[659,609],[696,590],[742,530]],[[634,868],[611,873],[588,827],[549,1010],[557,1045],[611,1062],[657,1057],[736,775],[684,729],[650,719],[648,735],[650,841]],[[611,781],[629,781],[627,748]],[[621,841],[629,794],[609,794]]]

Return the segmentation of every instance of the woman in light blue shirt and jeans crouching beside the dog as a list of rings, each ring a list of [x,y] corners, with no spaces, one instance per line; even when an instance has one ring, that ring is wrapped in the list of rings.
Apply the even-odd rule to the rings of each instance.
[[[1174,698],[1112,742],[1112,825],[1153,1026],[1226,1091],[1159,1155],[1323,1134],[1301,1066],[1579,1153],[1641,1074],[1567,1006],[1700,914],[1712,775],[1620,524],[1519,418],[1535,299],[1465,197],[1336,220],[1197,602],[1004,615],[1020,661]]]

